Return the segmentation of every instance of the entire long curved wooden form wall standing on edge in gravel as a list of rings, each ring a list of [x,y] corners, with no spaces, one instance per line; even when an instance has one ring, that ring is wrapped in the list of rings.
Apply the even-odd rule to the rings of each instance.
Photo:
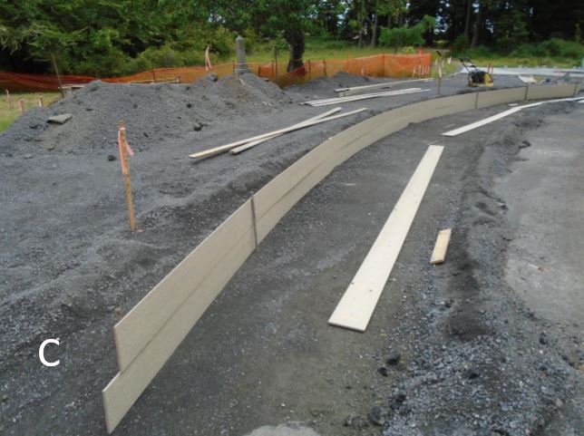
[[[248,256],[299,199],[355,153],[411,122],[509,102],[571,97],[580,84],[470,92],[385,111],[341,131],[227,218],[113,327],[120,372],[103,389],[111,433]]]

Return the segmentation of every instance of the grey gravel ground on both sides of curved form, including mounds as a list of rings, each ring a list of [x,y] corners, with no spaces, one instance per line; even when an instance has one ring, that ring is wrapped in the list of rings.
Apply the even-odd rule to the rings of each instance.
[[[340,75],[287,92],[252,75],[191,85],[97,82],[27,112],[2,134],[0,430],[104,434],[101,390],[116,372],[115,307],[127,312],[307,150],[435,92],[346,104],[371,111],[237,158],[187,155],[314,116],[323,109],[297,102],[365,82]],[[464,78],[443,84],[445,94],[467,91]],[[328,327],[326,319],[425,147],[442,140],[444,126],[501,109],[414,125],[348,160],[249,258],[115,434],[244,434],[286,421],[323,435],[546,434],[581,362],[562,359],[553,342],[540,344],[540,319],[502,278],[512,236],[492,178],[508,170],[525,131],[573,106],[536,108],[496,130],[448,139],[365,334]],[[48,126],[57,113],[73,119]],[[119,163],[108,160],[120,118],[137,151],[132,186],[144,231],[134,235],[125,226]],[[455,228],[451,257],[430,267],[433,238],[446,226]],[[61,360],[56,368],[36,354],[48,337],[61,339],[47,348],[47,359]],[[386,366],[390,348],[401,359]]]

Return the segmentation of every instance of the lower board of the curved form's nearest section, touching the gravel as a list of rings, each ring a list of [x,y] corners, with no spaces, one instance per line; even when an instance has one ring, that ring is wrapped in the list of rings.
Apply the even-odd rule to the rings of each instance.
[[[245,237],[239,239],[161,330],[152,337],[151,342],[141,350],[131,365],[122,373],[118,373],[103,389],[103,409],[108,433],[122,421],[141,392],[151,383],[254,247],[253,231],[249,229]]]

